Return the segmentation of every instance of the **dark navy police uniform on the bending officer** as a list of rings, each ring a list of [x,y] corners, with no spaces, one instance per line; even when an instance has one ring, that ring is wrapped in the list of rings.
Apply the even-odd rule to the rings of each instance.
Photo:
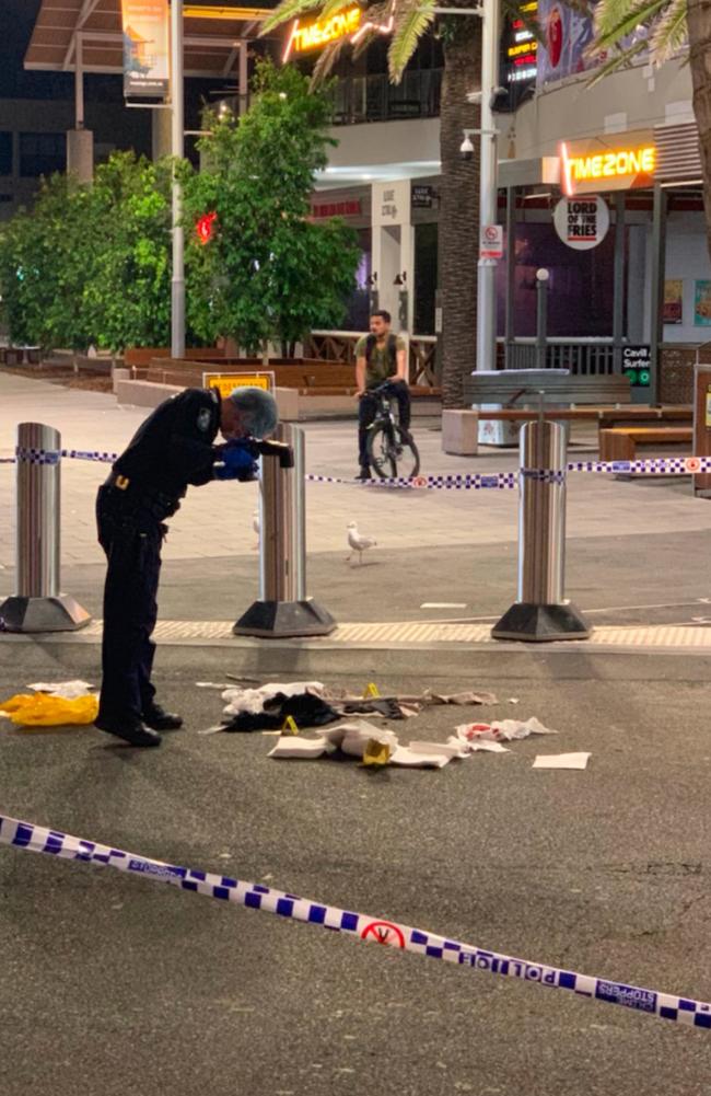
[[[188,484],[214,478],[220,424],[217,389],[188,388],[165,400],[138,429],[99,489],[99,543],[108,568],[104,587],[99,721],[140,722],[153,703],[156,594],[164,524]]]

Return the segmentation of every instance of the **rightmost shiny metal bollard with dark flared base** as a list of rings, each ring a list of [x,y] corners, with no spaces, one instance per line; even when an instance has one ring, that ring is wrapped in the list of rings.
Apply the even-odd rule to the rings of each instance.
[[[542,418],[520,432],[518,598],[492,628],[494,639],[587,639],[565,601],[565,429]]]

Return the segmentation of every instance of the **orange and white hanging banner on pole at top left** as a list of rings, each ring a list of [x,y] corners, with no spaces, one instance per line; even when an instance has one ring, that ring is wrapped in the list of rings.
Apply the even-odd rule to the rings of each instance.
[[[124,96],[168,94],[168,0],[122,0]]]

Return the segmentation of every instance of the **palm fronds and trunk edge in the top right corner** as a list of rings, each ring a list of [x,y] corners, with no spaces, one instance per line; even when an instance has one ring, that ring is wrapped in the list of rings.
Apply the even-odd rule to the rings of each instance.
[[[711,253],[711,0],[600,0],[595,30],[593,48],[611,56],[590,83],[626,68],[645,49],[654,65],[663,65],[688,46]]]

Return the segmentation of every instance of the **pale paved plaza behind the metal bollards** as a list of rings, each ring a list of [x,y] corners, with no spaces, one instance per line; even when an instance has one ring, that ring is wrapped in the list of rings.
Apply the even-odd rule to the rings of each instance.
[[[140,408],[117,407],[112,395],[76,391],[0,373],[0,455],[10,455],[19,422],[42,421],[61,432],[67,448],[119,450],[145,418]],[[417,424],[422,467],[426,472],[508,471],[513,450],[488,449],[478,457],[441,453],[441,435],[433,422]],[[352,477],[355,471],[355,421],[305,424],[307,471]],[[574,435],[583,444],[587,433]],[[588,448],[592,452],[592,447]],[[93,500],[106,466],[80,460],[64,463],[62,561],[67,566],[101,563],[95,541]],[[14,483],[10,465],[0,465],[0,566],[14,559]],[[570,540],[639,534],[685,534],[708,529],[708,501],[691,495],[687,478],[616,481],[576,473],[569,480]],[[167,560],[214,559],[254,552],[252,514],[256,484],[213,483],[191,490],[171,522]],[[390,550],[413,551],[455,546],[511,545],[517,538],[517,494],[504,491],[400,491],[356,486],[311,483],[307,489],[310,555],[346,548],[346,525],[377,536]],[[574,550],[574,549],[573,549]]]

